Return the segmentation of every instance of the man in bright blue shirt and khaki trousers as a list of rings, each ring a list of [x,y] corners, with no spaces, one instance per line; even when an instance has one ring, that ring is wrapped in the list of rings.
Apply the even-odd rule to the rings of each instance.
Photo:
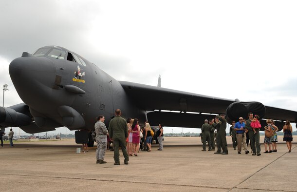
[[[245,136],[245,124],[243,123],[243,118],[239,117],[239,122],[235,123],[234,130],[236,131],[236,139],[237,139],[237,153],[241,154],[241,143],[243,144],[243,149],[245,154],[250,153],[247,150],[246,145],[246,136]]]

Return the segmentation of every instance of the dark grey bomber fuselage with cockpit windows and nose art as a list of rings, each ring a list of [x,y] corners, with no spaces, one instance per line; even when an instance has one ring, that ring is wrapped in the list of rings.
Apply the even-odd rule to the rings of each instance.
[[[115,109],[145,120],[145,111],[133,105],[117,80],[64,48],[24,53],[11,62],[9,73],[39,128],[93,129],[98,115],[108,124]]]

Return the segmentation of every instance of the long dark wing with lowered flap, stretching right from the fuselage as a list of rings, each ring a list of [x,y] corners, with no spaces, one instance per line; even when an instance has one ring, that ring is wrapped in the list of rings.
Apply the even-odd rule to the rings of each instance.
[[[151,125],[158,125],[158,123],[163,122],[169,127],[200,128],[204,119],[214,118],[215,115],[209,114],[226,113],[226,109],[229,105],[237,102],[237,100],[204,96],[139,83],[127,81],[119,82],[126,91],[127,95],[129,95],[131,100],[140,109],[151,111],[147,114]],[[265,108],[266,113],[263,118],[271,118],[281,121],[290,120],[291,122],[296,122],[297,112],[269,106],[265,106]],[[163,112],[161,110],[180,113]],[[246,115],[244,118],[247,118],[246,112],[244,115]],[[237,121],[237,119],[238,117],[233,120]],[[280,126],[280,124],[278,126]]]

